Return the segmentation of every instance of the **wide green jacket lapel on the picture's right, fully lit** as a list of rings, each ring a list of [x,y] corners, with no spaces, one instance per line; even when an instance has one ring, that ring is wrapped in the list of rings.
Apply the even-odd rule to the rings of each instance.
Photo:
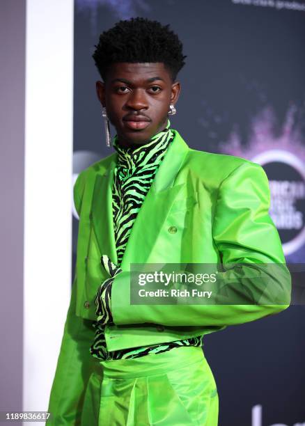
[[[156,172],[132,227],[121,262],[123,270],[129,270],[130,263],[146,263],[173,201],[185,187],[185,183],[175,184],[175,177],[189,147],[176,130],[173,132],[175,139]]]

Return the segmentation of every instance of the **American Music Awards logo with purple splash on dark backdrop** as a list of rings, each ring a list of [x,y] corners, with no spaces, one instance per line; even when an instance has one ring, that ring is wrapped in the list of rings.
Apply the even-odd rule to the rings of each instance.
[[[296,125],[297,107],[291,105],[281,132],[274,131],[276,117],[266,107],[251,123],[251,136],[242,144],[235,128],[221,151],[263,166],[271,194],[269,214],[279,230],[286,255],[305,244],[305,150]]]

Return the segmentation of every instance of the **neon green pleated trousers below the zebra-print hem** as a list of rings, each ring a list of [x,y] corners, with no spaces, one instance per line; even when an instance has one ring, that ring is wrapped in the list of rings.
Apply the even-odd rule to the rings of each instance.
[[[81,414],[81,426],[217,424],[217,387],[201,347],[97,363]]]

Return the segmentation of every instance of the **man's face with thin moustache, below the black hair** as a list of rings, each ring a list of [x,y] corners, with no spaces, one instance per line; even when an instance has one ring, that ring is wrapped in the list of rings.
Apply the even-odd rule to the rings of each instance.
[[[120,145],[136,146],[166,127],[169,105],[178,100],[180,84],[172,82],[164,63],[114,63],[96,89]]]

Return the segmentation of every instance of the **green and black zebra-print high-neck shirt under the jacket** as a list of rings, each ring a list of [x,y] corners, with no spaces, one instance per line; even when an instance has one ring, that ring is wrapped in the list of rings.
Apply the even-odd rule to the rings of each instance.
[[[171,132],[169,126],[170,122],[168,120],[166,128],[162,132],[153,136],[145,145],[141,145],[134,150],[121,147],[118,144],[117,136],[114,138],[114,148],[118,152],[118,161],[114,171],[112,207],[118,266],[122,261],[132,226],[155,178],[157,168],[159,168],[167,148],[173,142],[173,132]],[[110,285],[112,285],[113,279],[109,279],[111,281]],[[107,291],[111,294],[111,287]],[[166,352],[173,349],[173,347],[202,345],[202,336],[198,336],[150,347],[136,347],[108,352],[104,338],[104,325],[94,322],[93,327],[96,331],[90,352],[93,357],[102,361],[106,359],[139,358],[147,354]]]

